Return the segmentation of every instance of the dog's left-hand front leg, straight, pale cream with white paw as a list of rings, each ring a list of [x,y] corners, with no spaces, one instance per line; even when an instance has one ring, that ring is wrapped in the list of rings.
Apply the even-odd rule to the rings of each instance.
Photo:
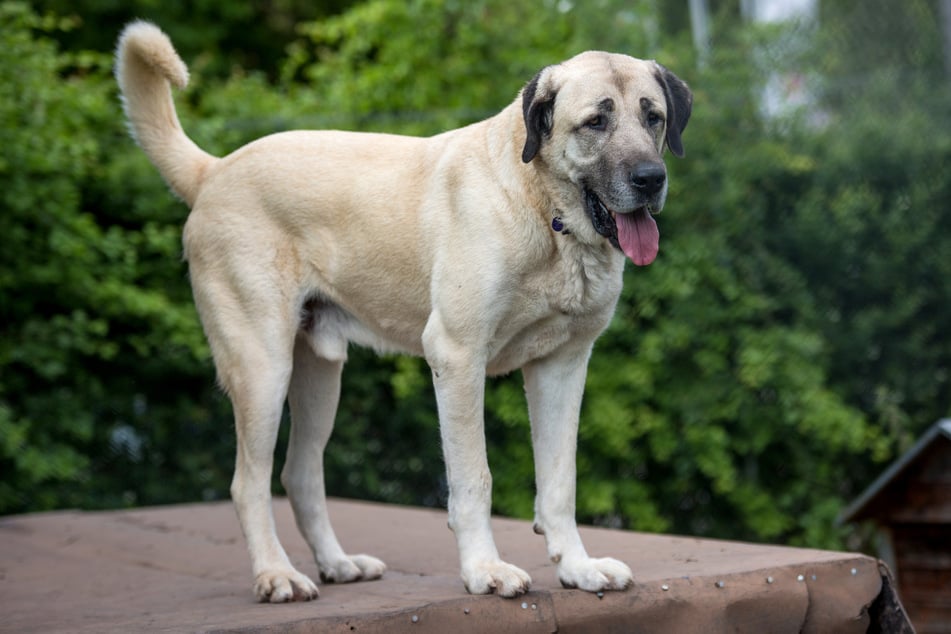
[[[483,419],[484,354],[455,345],[438,322],[427,327],[424,341],[436,388],[449,481],[449,528],[459,547],[462,581],[472,594],[522,594],[531,578],[499,558],[489,523],[492,475]]]

